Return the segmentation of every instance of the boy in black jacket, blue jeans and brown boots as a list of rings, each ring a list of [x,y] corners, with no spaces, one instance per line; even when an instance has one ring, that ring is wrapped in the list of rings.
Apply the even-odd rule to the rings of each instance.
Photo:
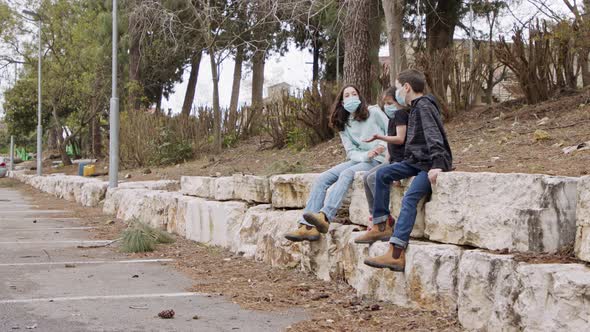
[[[393,181],[414,180],[404,195],[399,218],[395,224],[390,247],[383,256],[365,260],[365,264],[377,268],[403,271],[405,250],[416,221],[416,207],[420,199],[432,192],[440,172],[452,167],[452,154],[440,112],[430,96],[424,96],[424,74],[408,69],[398,75],[396,99],[401,105],[411,107],[408,119],[404,161],[382,167],[377,171],[373,222],[381,223],[392,217],[389,211],[389,194]]]

